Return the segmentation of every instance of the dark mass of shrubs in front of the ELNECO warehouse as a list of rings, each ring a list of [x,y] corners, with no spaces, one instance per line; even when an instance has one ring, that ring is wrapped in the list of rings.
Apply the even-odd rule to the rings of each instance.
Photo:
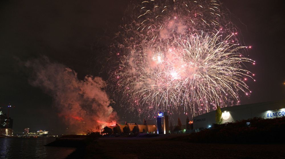
[[[285,117],[253,118],[235,123],[213,124],[211,129],[190,134],[190,142],[276,143],[284,136]]]

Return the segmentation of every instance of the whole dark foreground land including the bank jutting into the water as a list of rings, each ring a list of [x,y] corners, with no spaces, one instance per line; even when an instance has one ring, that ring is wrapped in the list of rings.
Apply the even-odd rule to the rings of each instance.
[[[63,138],[46,146],[71,147],[71,142],[84,143],[76,145],[76,150],[66,159],[72,158],[285,158],[283,144],[225,144],[225,143],[194,143],[177,140],[185,134],[168,134],[155,137],[101,137],[91,139]],[[59,141],[62,142],[59,142]],[[250,150],[250,151],[249,151]],[[154,155],[158,152],[160,155]],[[277,155],[278,154],[278,155]]]

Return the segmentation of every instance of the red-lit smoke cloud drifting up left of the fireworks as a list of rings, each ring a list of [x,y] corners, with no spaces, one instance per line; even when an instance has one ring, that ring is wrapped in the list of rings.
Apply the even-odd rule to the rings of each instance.
[[[74,70],[46,57],[27,61],[25,66],[32,70],[30,84],[52,97],[59,117],[72,131],[115,123],[117,113],[109,106],[106,83],[100,77],[87,75],[79,80]]]

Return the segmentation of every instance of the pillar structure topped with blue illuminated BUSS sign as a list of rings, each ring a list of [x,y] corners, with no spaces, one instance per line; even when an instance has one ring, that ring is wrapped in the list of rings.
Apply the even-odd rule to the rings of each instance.
[[[162,119],[163,119],[163,125],[162,125]],[[168,134],[169,133],[169,124],[168,124],[167,112],[158,113],[156,120],[157,120],[158,134]]]

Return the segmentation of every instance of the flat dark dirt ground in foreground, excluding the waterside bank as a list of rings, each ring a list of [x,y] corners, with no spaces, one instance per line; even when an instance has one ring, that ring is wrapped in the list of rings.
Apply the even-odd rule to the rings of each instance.
[[[99,138],[94,158],[285,158],[285,144],[203,144],[153,138]],[[98,155],[99,154],[99,155]],[[100,157],[99,157],[100,156]],[[89,156],[91,157],[91,156]]]

